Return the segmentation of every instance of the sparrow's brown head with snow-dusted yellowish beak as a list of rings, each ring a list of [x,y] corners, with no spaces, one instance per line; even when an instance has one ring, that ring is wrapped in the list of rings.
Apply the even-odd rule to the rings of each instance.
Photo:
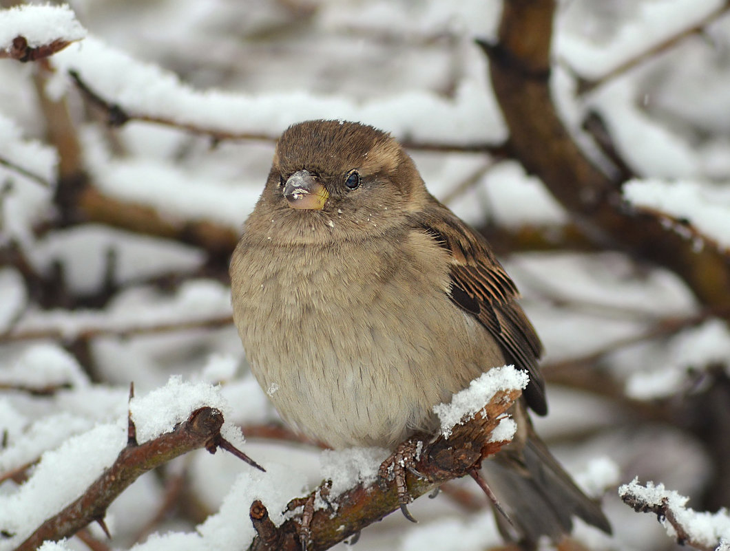
[[[264,224],[269,238],[283,242],[366,238],[396,227],[427,196],[411,158],[388,133],[312,120],[282,134],[249,223]]]

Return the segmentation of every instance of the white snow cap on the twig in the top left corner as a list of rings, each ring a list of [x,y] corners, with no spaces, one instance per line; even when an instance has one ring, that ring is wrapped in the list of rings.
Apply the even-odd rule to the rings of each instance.
[[[68,4],[0,9],[0,50],[9,50],[16,36],[24,36],[28,46],[38,47],[55,40],[80,40],[86,36],[86,29]]]

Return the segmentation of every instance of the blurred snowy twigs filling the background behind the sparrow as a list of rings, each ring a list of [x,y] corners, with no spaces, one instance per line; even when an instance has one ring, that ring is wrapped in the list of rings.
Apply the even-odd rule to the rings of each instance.
[[[431,192],[493,241],[547,350],[550,415],[537,430],[586,491],[605,492],[614,536],[579,524],[576,542],[673,547],[618,498],[634,477],[696,510],[730,506],[730,299],[702,304],[669,270],[602,249],[496,153],[509,130],[474,39],[495,38],[499,1],[11,4],[0,2],[0,50],[21,35],[72,44],[32,63],[0,55],[0,550],[114,461],[131,381],[140,442],[214,405],[267,473],[202,450],[145,474],[108,511],[114,549],[242,549],[253,499],[280,521],[289,499],[347,462],[272,437],[277,415],[230,321],[228,256],[273,140],[312,118],[391,131]],[[551,85],[593,156],[583,122],[602,117],[632,172],[627,201],[730,262],[724,4],[561,1]],[[108,125],[119,112],[131,120]],[[239,428],[258,437],[244,443]],[[356,549],[498,546],[476,485],[452,487],[412,505],[418,525],[391,515]],[[730,539],[716,518],[707,549]]]

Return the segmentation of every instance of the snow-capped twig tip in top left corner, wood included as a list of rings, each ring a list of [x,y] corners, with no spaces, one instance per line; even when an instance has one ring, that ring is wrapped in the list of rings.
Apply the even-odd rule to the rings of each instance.
[[[47,58],[85,36],[86,29],[66,4],[0,9],[0,58]]]

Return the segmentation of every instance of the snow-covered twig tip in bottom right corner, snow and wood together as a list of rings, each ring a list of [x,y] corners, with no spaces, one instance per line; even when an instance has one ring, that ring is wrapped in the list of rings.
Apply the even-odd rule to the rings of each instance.
[[[634,478],[618,488],[624,503],[637,512],[653,512],[666,528],[666,533],[680,545],[691,545],[702,551],[726,550],[730,542],[730,514],[727,509],[718,512],[696,512],[685,507],[688,498],[667,490],[664,484],[639,484]]]

